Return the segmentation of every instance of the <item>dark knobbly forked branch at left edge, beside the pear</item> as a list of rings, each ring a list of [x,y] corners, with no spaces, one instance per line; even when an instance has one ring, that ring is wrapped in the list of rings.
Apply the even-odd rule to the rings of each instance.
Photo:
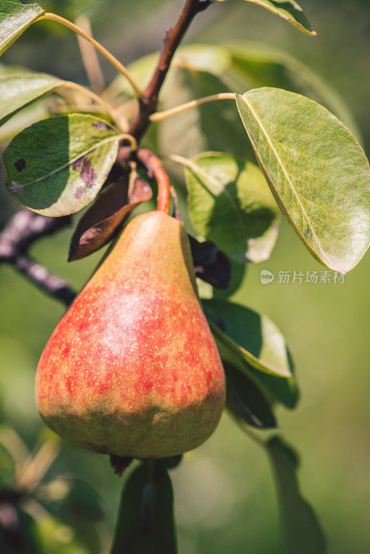
[[[0,233],[0,264],[15,267],[34,285],[65,305],[71,304],[75,293],[61,278],[28,256],[31,244],[69,225],[71,218],[45,217],[28,209],[16,213]]]

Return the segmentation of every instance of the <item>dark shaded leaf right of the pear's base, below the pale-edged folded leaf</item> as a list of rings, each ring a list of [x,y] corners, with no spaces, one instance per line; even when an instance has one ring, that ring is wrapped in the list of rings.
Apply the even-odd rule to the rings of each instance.
[[[252,379],[231,364],[224,364],[227,383],[226,406],[243,427],[245,423],[258,429],[274,429],[276,419],[272,407]]]

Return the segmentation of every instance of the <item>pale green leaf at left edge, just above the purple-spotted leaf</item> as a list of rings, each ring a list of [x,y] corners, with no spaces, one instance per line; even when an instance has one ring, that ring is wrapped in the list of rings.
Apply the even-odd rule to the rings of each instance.
[[[64,81],[42,73],[0,77],[0,125],[34,100],[55,91]]]

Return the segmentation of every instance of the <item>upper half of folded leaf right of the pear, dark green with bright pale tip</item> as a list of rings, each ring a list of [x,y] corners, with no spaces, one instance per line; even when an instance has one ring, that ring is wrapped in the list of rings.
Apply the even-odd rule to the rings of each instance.
[[[292,361],[285,339],[267,316],[222,300],[205,300],[203,307],[213,323],[223,359],[242,367],[246,361],[258,371],[292,377]]]

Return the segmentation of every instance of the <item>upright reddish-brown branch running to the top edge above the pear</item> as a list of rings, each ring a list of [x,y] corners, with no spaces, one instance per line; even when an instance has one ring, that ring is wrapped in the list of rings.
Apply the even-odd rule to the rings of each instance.
[[[130,134],[140,140],[150,124],[150,116],[157,108],[159,91],[170,69],[170,63],[175,55],[177,46],[184,38],[191,21],[197,13],[202,12],[211,4],[211,0],[186,0],[184,8],[174,27],[170,27],[164,34],[164,47],[161,51],[157,68],[152,79],[139,100],[139,111],[130,127]]]

